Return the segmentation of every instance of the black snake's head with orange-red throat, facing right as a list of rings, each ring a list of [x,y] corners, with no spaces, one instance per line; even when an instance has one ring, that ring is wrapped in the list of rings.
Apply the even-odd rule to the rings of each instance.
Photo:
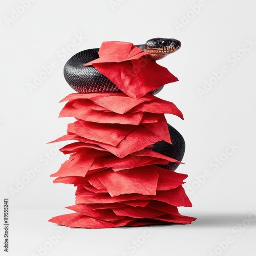
[[[152,38],[145,43],[145,52],[152,60],[157,60],[165,57],[169,53],[176,52],[181,47],[181,42],[174,38]]]

